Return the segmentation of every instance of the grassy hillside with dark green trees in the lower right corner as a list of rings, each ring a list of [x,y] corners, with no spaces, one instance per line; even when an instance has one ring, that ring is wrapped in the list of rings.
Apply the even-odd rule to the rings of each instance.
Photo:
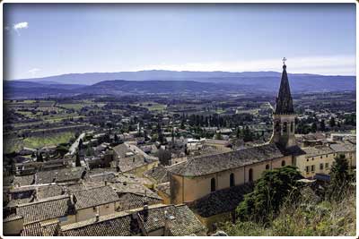
[[[264,172],[237,208],[237,222],[227,222],[221,230],[242,236],[355,235],[355,178],[346,158],[335,159],[324,193],[295,180],[295,171],[285,166]]]

